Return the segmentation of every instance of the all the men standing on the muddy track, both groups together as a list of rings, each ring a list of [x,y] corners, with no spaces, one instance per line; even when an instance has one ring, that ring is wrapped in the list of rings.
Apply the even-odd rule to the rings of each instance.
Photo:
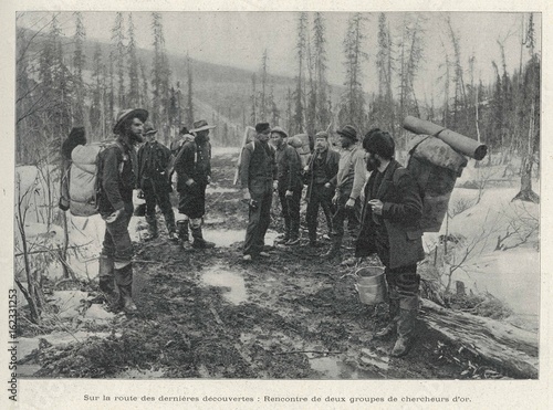
[[[114,295],[114,285],[117,286],[116,304],[125,312],[136,311],[132,298],[133,246],[127,229],[135,187],[146,202],[149,239],[158,235],[155,211],[159,206],[171,240],[180,241],[185,249],[215,245],[204,239],[201,230],[206,187],[211,179],[209,130],[213,126],[200,120],[190,130],[182,128],[169,149],[156,141],[157,132],[147,123],[147,117],[144,109],[127,109],[118,115],[114,126],[116,144],[105,149],[101,175],[98,210],[106,222],[106,232],[100,261],[100,287]],[[270,256],[264,236],[274,191],[278,191],[284,218],[281,242],[289,246],[299,243],[300,202],[306,185],[310,245],[320,246],[317,220],[322,208],[332,239],[325,257],[340,255],[347,221],[347,231],[356,241],[355,256],[377,253],[386,266],[390,325],[378,336],[397,332],[392,354],[401,356],[409,347],[418,309],[416,271],[417,262],[424,257],[419,229],[421,197],[417,182],[394,159],[395,145],[388,133],[372,129],[361,146],[353,126],[346,125],[336,133],[341,153],[332,149],[328,133],[320,132],[302,167],[300,155],[288,144],[284,129],[271,128],[268,123],[255,125],[255,137],[242,149],[239,175],[249,203],[243,260]],[[135,146],[143,143],[143,136],[146,141],[136,153]],[[177,222],[169,201],[171,161],[177,175],[178,211],[184,215]],[[371,172],[368,181],[367,171]]]

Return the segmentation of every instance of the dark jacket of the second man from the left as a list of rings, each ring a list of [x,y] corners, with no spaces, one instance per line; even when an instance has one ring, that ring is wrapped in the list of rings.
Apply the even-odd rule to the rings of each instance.
[[[143,188],[144,181],[149,179],[156,188],[170,191],[170,183],[166,175],[170,156],[171,151],[161,143],[154,140],[143,144],[137,154],[138,187]]]

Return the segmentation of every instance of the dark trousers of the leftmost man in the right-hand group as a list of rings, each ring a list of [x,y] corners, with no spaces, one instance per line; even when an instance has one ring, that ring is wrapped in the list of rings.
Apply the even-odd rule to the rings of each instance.
[[[243,253],[257,255],[263,250],[265,233],[271,222],[272,181],[251,181],[249,190],[251,201]]]

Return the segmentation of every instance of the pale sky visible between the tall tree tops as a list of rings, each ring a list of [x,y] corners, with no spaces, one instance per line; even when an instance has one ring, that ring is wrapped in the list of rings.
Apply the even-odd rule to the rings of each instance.
[[[125,13],[125,27],[127,24]],[[365,46],[368,54],[363,71],[365,91],[377,90],[376,52],[378,13],[364,13]],[[18,14],[17,23],[24,27],[40,28],[51,19],[48,12],[24,12]],[[445,48],[452,54],[448,36],[446,18],[449,15],[453,30],[460,39],[461,63],[469,81],[468,59],[476,57],[474,76],[484,83],[493,78],[492,61],[501,66],[498,40],[504,44],[508,71],[512,72],[520,61],[520,33],[522,17],[528,13],[509,12],[426,12],[406,13],[387,12],[386,17],[395,43],[399,43],[401,28],[406,21],[420,17],[426,23],[424,35],[424,59],[420,64],[415,88],[420,97],[438,94],[441,87],[438,78],[444,71]],[[261,56],[267,49],[269,72],[295,76],[296,12],[161,12],[166,49],[169,53],[192,59],[255,71],[260,69]],[[328,81],[341,85],[344,82],[343,39],[346,33],[347,12],[324,12],[326,27]],[[83,12],[84,25],[88,39],[109,41],[115,12]],[[61,12],[59,21],[65,35],[75,32],[74,15]],[[136,40],[139,48],[152,48],[152,15],[149,12],[133,12],[136,27]],[[313,13],[310,13],[310,25]],[[538,34],[541,32],[541,15],[534,13]],[[541,42],[538,39],[538,45]],[[445,48],[444,45],[445,44]],[[528,51],[523,51],[528,59]]]

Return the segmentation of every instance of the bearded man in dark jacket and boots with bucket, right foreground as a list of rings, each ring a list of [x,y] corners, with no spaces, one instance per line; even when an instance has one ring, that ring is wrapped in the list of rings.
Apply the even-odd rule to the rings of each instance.
[[[389,324],[376,337],[397,332],[392,356],[405,355],[413,343],[420,276],[417,262],[425,257],[420,218],[422,201],[417,181],[394,159],[388,133],[372,129],[363,139],[371,177],[365,186],[363,222],[355,256],[377,253],[386,266]]]

